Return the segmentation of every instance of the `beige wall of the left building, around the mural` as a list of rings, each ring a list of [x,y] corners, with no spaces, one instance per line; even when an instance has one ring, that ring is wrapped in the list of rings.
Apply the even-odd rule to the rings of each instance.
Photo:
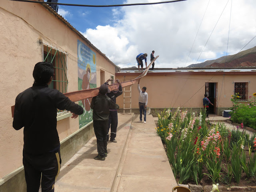
[[[67,25],[40,4],[0,1],[0,179],[22,166],[23,128],[12,128],[11,106],[33,84],[34,65],[42,62],[42,42],[68,52],[68,92],[78,90],[78,40],[96,53],[97,86],[115,74],[116,66]],[[105,72],[103,80],[100,70]],[[60,141],[78,129],[78,118],[57,123]]]

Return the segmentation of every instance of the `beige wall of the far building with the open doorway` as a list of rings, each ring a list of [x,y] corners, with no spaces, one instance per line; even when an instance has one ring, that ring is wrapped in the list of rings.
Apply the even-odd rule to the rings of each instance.
[[[116,73],[116,78],[128,81],[140,73]],[[224,79],[223,79],[224,77]],[[222,85],[223,80],[223,85]],[[148,107],[154,108],[202,108],[205,94],[205,83],[216,83],[217,108],[230,108],[231,95],[234,94],[234,82],[248,82],[248,94],[256,92],[256,72],[226,72],[225,75],[215,72],[207,74],[195,72],[148,73],[140,80],[140,89],[146,86]],[[132,85],[132,109],[138,109],[138,84]],[[123,108],[123,96],[117,98],[117,104]],[[217,114],[217,110],[216,110]]]

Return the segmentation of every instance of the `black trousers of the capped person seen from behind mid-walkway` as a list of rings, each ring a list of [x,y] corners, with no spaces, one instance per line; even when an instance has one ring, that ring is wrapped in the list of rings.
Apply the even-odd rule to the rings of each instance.
[[[108,120],[97,121],[93,120],[94,133],[97,138],[98,154],[103,156],[107,151],[107,133],[108,133]]]

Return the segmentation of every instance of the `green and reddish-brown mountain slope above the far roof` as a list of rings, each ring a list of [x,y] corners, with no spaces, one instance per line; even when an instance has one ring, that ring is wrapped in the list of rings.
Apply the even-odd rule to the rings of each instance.
[[[227,62],[226,62],[227,61]],[[222,56],[215,60],[207,60],[187,67],[239,67],[256,66],[256,46],[238,54]]]

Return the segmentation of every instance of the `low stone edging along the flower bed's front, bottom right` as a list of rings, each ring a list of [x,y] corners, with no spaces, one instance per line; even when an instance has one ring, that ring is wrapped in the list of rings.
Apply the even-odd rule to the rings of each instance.
[[[212,185],[206,185],[202,187],[201,185],[193,185],[193,184],[188,184],[188,185],[183,185],[183,184],[178,184],[179,186],[184,186],[187,187],[191,190],[191,192],[210,192],[212,190]],[[238,186],[232,186],[232,187],[226,187],[226,186],[218,186],[218,190],[220,192],[229,192],[229,191],[240,191],[240,192],[256,192],[256,186],[247,186],[247,187],[238,187]]]

